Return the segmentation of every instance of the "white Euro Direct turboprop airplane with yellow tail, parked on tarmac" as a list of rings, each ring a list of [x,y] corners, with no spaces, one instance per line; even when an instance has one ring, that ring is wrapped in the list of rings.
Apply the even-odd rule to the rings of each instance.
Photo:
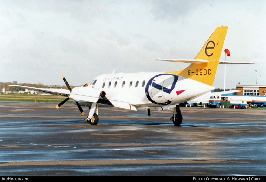
[[[155,59],[191,63],[183,70],[105,74],[94,78],[89,85],[85,84],[73,89],[62,75],[69,90],[10,86],[68,97],[56,108],[71,98],[82,114],[84,112],[81,106],[89,107],[89,115],[85,121],[93,125],[99,121],[98,104],[102,103],[135,111],[147,110],[149,117],[151,107],[157,110],[173,108],[171,120],[175,126],[179,126],[183,119],[179,104],[215,89],[213,82],[227,28],[228,26],[216,28],[194,60]]]

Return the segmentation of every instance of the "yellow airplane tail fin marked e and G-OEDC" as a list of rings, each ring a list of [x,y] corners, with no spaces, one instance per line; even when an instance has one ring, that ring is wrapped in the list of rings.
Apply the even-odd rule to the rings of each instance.
[[[214,30],[210,38],[202,47],[195,60],[207,60],[207,63],[191,63],[184,70],[170,71],[167,73],[184,76],[192,80],[213,86],[215,74],[219,64],[223,43],[228,26],[221,26]]]

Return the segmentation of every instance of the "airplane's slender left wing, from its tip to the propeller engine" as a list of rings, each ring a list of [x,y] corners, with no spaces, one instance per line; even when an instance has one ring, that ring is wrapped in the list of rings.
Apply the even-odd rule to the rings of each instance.
[[[57,88],[45,89],[45,88],[27,87],[27,86],[22,86],[22,85],[9,85],[9,86],[22,88],[22,89],[28,89],[28,90],[34,90],[34,91],[42,92],[42,93],[61,95],[65,97],[68,97],[70,95],[70,91],[66,89],[57,89]]]

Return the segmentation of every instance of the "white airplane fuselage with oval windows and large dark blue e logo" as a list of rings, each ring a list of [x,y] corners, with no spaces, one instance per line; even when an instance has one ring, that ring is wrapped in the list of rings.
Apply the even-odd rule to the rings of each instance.
[[[104,91],[107,98],[131,103],[138,110],[175,106],[214,89],[198,81],[164,72],[104,74],[94,78],[87,88],[98,90],[96,93]],[[78,102],[82,103],[80,100]]]

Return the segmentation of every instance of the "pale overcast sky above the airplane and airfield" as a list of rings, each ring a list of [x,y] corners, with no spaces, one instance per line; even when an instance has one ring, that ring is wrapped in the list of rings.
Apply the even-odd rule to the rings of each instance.
[[[229,26],[226,88],[266,85],[266,1],[0,1],[0,81],[83,85],[98,75],[175,71]],[[222,52],[221,60],[225,60]],[[214,87],[224,87],[219,65]]]

